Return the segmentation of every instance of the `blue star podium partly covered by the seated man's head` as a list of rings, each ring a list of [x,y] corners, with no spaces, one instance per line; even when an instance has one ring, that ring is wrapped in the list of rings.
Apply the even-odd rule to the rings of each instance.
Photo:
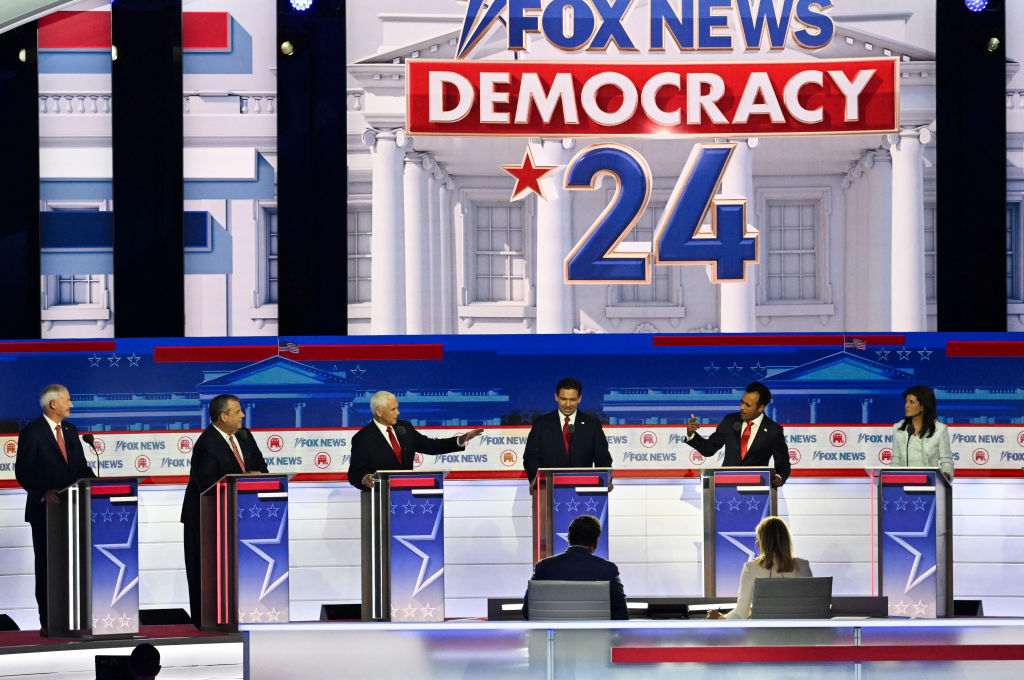
[[[580,515],[601,520],[594,554],[608,559],[611,468],[541,468],[534,478],[534,563],[569,546],[569,523]]]

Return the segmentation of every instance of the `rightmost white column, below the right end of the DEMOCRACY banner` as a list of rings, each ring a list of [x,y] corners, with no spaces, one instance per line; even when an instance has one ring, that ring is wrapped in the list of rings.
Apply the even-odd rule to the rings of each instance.
[[[893,159],[892,331],[927,331],[925,308],[925,144],[928,128],[889,135]],[[866,421],[865,421],[866,422]]]

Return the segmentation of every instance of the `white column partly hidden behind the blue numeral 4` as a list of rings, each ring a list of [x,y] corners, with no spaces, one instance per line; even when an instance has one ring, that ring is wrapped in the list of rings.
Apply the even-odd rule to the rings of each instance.
[[[723,198],[746,199],[746,223],[754,224],[754,150],[758,140],[739,139],[722,178]],[[755,226],[757,226],[755,224]],[[759,248],[762,246],[759,244]],[[746,265],[746,280],[719,284],[718,318],[722,333],[754,333],[758,267]]]

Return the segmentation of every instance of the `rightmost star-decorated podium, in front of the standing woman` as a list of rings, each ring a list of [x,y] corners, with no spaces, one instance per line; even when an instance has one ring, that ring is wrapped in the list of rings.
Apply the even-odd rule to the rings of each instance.
[[[953,615],[952,490],[936,469],[878,474],[879,593],[890,617]]]

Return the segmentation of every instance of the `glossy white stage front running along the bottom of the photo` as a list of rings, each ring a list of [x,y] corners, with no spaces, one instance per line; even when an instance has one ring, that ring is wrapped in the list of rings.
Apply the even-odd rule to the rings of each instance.
[[[190,629],[190,630],[189,630]],[[141,641],[175,678],[980,677],[1024,672],[1024,619],[243,625],[239,635],[143,627],[131,640],[0,633],[0,678],[92,678],[96,654]]]

